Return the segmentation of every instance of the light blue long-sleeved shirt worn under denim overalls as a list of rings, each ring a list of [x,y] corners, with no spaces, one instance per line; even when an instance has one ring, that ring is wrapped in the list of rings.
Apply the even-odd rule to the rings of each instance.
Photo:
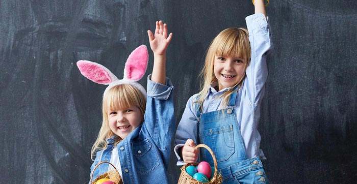
[[[245,18],[249,32],[251,47],[251,60],[246,70],[246,77],[242,87],[237,91],[235,111],[237,121],[243,137],[246,154],[248,158],[261,157],[266,159],[260,149],[261,136],[258,132],[260,117],[260,103],[264,95],[264,84],[268,71],[266,56],[271,49],[269,37],[268,21],[263,14],[253,14]],[[207,113],[222,109],[222,99],[219,98],[229,88],[216,91],[216,84],[212,84],[205,101],[203,102],[203,112]],[[193,102],[197,99],[197,94],[193,95],[187,102],[185,111],[176,130],[175,154],[177,165],[183,165],[178,152],[184,146],[187,139],[192,139],[197,143],[197,116],[196,106]],[[226,108],[226,107],[224,107]]]

